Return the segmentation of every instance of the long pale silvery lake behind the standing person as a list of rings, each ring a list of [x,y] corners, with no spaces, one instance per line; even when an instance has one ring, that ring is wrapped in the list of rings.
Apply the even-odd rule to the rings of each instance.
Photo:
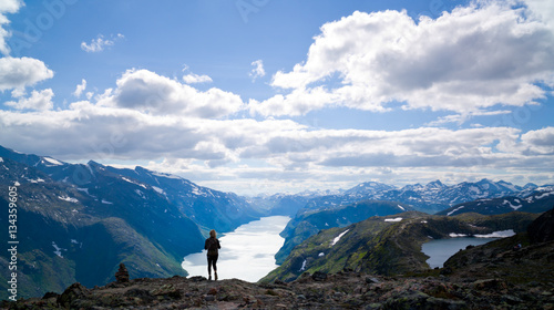
[[[289,220],[287,216],[263,217],[218,237],[222,245],[217,260],[218,278],[256,282],[277,268],[274,256],[285,242],[279,232]],[[186,256],[182,267],[189,277],[207,278],[206,250]]]

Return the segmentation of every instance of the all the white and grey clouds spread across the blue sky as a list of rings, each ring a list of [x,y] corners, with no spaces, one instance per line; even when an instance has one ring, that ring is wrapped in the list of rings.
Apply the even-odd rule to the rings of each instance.
[[[529,8],[551,6],[533,3]],[[326,23],[307,59],[276,72],[276,93],[261,101],[196,87],[212,83],[208,75],[172,79],[130,69],[113,89],[95,90],[94,99],[91,92],[54,108],[52,89],[31,90],[53,71],[37,59],[6,56],[0,92],[12,91],[12,100],[0,110],[0,144],[65,161],[150,162],[152,169],[240,193],[368,179],[552,183],[553,126],[433,127],[506,114],[510,106],[541,108],[533,102],[554,86],[554,28],[547,13],[512,4],[478,1],[419,21],[399,11],[355,12]],[[0,4],[0,23],[2,13],[17,10],[6,8]],[[103,39],[83,44],[91,52],[110,45]],[[263,60],[252,65],[253,81],[266,74]],[[86,86],[83,79],[72,99]],[[390,103],[454,114],[396,131],[317,128],[287,120],[329,107],[399,112]]]

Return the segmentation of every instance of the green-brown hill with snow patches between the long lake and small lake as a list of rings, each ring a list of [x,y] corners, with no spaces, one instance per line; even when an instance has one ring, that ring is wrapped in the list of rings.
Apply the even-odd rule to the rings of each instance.
[[[486,235],[507,229],[521,232],[537,216],[511,213],[448,217],[408,211],[370,217],[347,227],[320,230],[296,246],[283,265],[260,281],[291,281],[304,272],[316,271],[353,270],[383,276],[424,272],[429,265],[421,245],[430,238],[450,238],[451,234]]]

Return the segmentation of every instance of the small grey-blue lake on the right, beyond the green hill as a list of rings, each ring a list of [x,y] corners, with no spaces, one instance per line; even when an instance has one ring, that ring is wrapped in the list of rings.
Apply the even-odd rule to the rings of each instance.
[[[450,239],[437,239],[425,242],[421,246],[421,251],[429,256],[427,264],[431,268],[442,268],[444,261],[447,261],[451,256],[456,254],[461,249],[465,249],[468,246],[479,246],[496,240],[500,238],[450,238]]]

